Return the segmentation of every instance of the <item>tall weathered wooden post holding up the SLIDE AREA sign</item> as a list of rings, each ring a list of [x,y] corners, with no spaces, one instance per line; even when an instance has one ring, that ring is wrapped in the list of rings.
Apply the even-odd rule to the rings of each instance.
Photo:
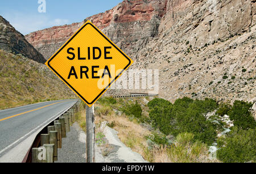
[[[86,155],[87,163],[95,163],[94,105],[86,105]]]

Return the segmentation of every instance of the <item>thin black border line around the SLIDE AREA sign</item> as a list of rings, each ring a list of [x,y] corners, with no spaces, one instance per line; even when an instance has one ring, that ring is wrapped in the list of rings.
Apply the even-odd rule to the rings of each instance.
[[[125,58],[127,58],[127,60],[129,61],[128,65],[126,65],[126,67],[112,80],[112,82],[110,82],[110,83],[108,84],[107,87],[110,87],[110,85],[123,73],[123,71],[125,71],[126,68],[131,65],[131,60],[130,60],[130,58],[127,57],[117,46],[115,46],[115,45],[112,43],[112,41],[110,41],[110,40],[108,39],[108,37],[106,37],[104,34],[102,34],[102,33],[98,30],[98,28],[96,28],[95,26],[93,26],[93,24],[91,24],[91,23],[86,23],[86,24],[84,24],[84,26],[82,26],[82,27],[79,29],[79,31],[77,31],[77,32],[75,33],[75,35],[73,35],[73,36],[71,37],[71,39],[69,39],[69,40],[67,41],[67,43],[65,43],[63,46],[61,46],[61,48],[54,54],[54,56],[52,56],[52,57],[50,58],[50,60],[47,62],[47,63],[48,63],[48,66],[49,66],[66,84],[68,84],[68,86],[69,86],[70,88],[72,88],[72,90],[75,91],[76,94],[79,95],[79,97],[81,97],[81,99],[86,102],[86,104],[89,104],[89,105],[90,105],[90,104],[93,104],[94,101],[96,101],[96,100],[107,90],[107,88],[104,88],[104,90],[102,90],[102,91],[100,92],[100,94],[99,94],[91,103],[89,103],[87,100],[85,100],[85,98],[84,98],[82,95],[79,94],[79,92],[77,92],[77,91],[75,90],[75,88],[73,88],[73,87],[71,86],[71,84],[69,84],[63,77],[61,77],[61,75],[60,75],[59,73],[57,73],[57,71],[56,71],[55,69],[53,69],[53,67],[50,65],[50,62],[53,60],[53,58],[55,58],[55,56],[57,56],[57,54],[59,54],[59,52],[60,52],[63,48],[65,48],[65,46],[67,46],[67,45],[69,44],[69,42],[70,42],[74,37],[76,37],[76,35],[77,35],[84,27],[86,27],[87,25],[90,25],[90,26],[92,26],[94,29],[96,29],[96,31],[97,31],[98,33],[100,33],[101,36],[103,36],[107,41],[109,41],[109,43],[112,44],[112,45],[114,46],[114,48],[117,49],[117,50],[118,50]]]

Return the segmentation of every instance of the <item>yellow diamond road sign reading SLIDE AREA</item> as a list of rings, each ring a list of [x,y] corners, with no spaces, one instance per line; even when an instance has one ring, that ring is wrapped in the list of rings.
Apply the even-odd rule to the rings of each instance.
[[[133,61],[86,22],[46,65],[91,107]]]

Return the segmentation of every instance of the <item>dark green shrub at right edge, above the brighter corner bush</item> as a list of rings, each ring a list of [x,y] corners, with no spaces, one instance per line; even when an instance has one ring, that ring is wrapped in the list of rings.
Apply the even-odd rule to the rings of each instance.
[[[234,120],[234,125],[240,129],[254,129],[256,122],[252,116],[250,109],[252,103],[245,101],[234,101],[233,107],[228,112],[230,120]]]

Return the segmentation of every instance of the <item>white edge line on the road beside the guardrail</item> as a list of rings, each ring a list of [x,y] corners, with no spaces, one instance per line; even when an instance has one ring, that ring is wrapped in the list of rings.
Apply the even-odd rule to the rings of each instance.
[[[16,143],[21,142],[23,139],[25,139],[26,137],[28,137],[28,135],[34,133],[36,130],[39,130],[40,128],[44,128],[44,126],[48,125],[50,122],[52,122],[53,120],[55,120],[58,116],[60,116],[61,114],[63,114],[64,112],[68,111],[69,108],[71,108],[74,104],[69,105],[69,107],[63,109],[62,111],[60,111],[59,113],[55,114],[54,116],[52,116],[51,118],[49,118],[48,120],[44,121],[42,124],[40,124],[39,126],[37,126],[35,129],[31,130],[29,133],[25,134],[23,137],[20,137],[19,139],[17,139],[15,142],[11,143],[9,146],[3,148],[3,150],[0,151],[0,158],[1,158],[1,154],[3,154],[3,152],[5,152],[6,150],[8,150],[10,147],[14,146]],[[64,112],[63,112],[64,111]],[[63,112],[63,113],[61,113]]]

